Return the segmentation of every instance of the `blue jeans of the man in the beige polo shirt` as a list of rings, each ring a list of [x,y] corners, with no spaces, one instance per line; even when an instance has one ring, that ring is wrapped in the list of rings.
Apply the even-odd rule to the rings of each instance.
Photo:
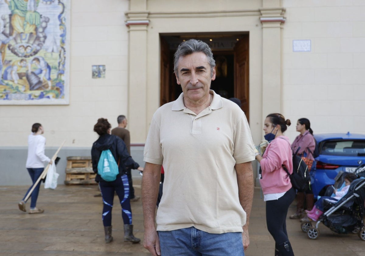
[[[245,256],[242,233],[212,234],[188,227],[158,231],[161,256]]]

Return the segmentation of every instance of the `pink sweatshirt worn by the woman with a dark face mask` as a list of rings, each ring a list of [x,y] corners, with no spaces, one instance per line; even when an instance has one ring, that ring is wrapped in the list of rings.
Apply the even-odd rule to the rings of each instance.
[[[293,172],[292,150],[289,139],[285,136],[278,136],[266,147],[260,161],[262,170],[260,184],[264,195],[287,192],[292,187],[290,178],[282,165],[287,167],[289,173]]]

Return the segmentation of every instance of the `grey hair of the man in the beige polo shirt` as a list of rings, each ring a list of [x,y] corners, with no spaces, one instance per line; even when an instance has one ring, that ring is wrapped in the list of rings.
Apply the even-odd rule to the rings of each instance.
[[[176,49],[174,54],[174,72],[179,77],[177,72],[177,63],[181,56],[187,56],[195,52],[202,52],[207,55],[208,63],[210,64],[211,76],[213,76],[213,69],[215,67],[215,60],[213,59],[212,50],[209,45],[201,40],[189,39],[188,41],[182,42]]]

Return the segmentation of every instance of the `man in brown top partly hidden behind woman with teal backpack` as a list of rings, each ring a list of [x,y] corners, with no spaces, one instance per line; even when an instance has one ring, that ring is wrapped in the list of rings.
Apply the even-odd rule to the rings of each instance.
[[[120,115],[120,116],[118,116],[117,121],[118,121],[118,127],[112,129],[112,134],[118,136],[119,138],[121,138],[124,141],[124,143],[126,144],[128,153],[131,154],[131,138],[130,138],[129,131],[126,129],[128,120],[127,120],[126,116]],[[130,168],[127,168],[127,177],[128,177],[128,183],[129,183],[129,199],[131,200],[131,202],[138,201],[139,198],[141,198],[141,197],[134,195],[132,174],[131,174]]]

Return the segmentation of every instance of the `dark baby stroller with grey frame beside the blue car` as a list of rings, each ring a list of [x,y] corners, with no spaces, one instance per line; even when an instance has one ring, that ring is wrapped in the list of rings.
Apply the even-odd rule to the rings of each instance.
[[[355,173],[360,178],[351,182],[349,191],[345,196],[335,203],[326,200],[323,201],[323,206],[326,211],[319,217],[315,226],[312,226],[310,221],[301,223],[301,229],[307,233],[308,238],[318,238],[318,226],[322,222],[323,225],[338,234],[357,233],[360,239],[365,241],[365,172]]]

